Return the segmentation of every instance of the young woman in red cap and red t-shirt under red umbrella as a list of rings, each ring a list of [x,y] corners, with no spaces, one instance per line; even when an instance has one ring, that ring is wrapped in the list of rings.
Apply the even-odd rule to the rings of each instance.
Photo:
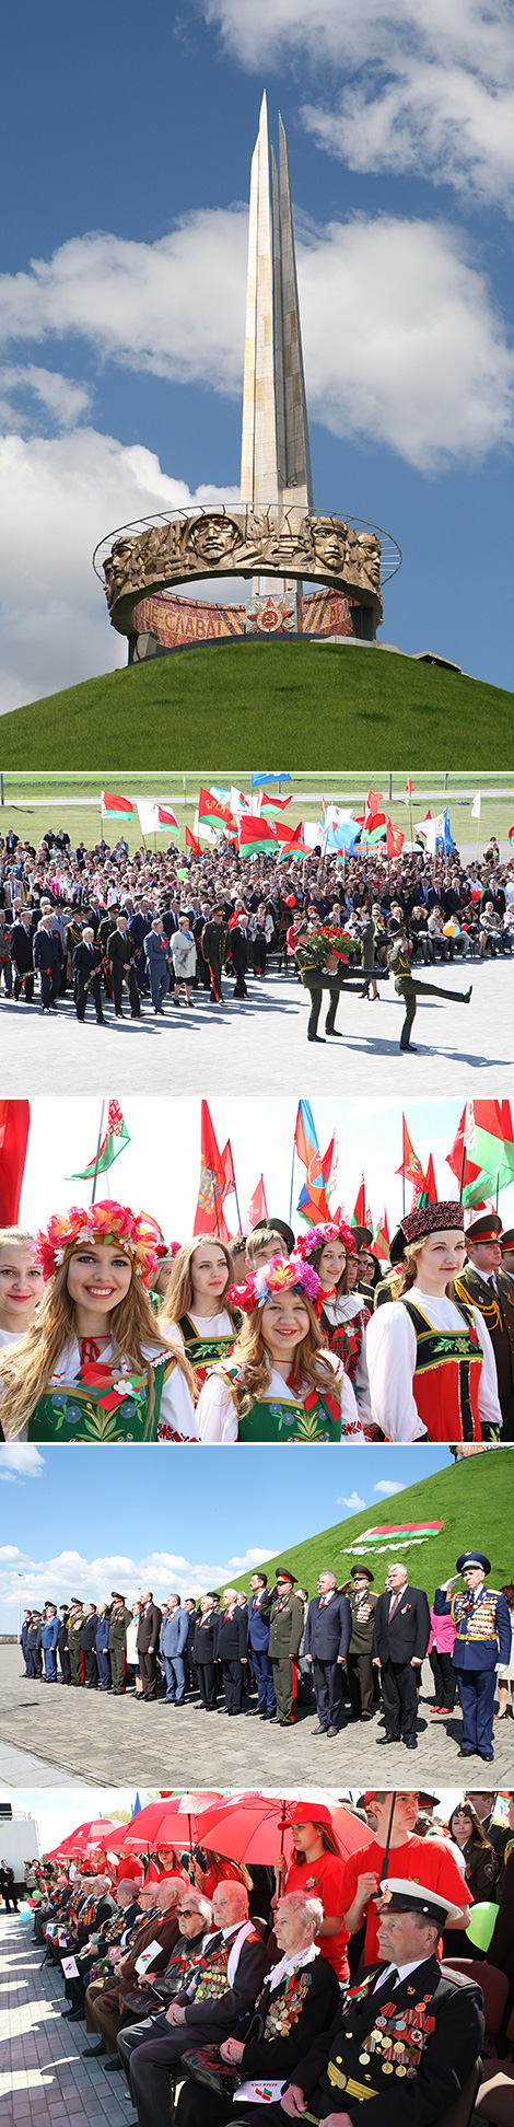
[[[310,1810],[316,1810],[310,1816]],[[272,1906],[289,1891],[306,1891],[310,1897],[321,1897],[325,1921],[316,1936],[316,1948],[327,1963],[333,1965],[338,1980],[348,1980],[348,1927],[344,1927],[344,1855],[336,1831],[331,1829],[331,1814],[325,1804],[291,1804],[289,1829],[293,1838],[293,1859],[287,1868],[287,1857],[278,1855],[274,1863],[276,1874],[276,1897]]]

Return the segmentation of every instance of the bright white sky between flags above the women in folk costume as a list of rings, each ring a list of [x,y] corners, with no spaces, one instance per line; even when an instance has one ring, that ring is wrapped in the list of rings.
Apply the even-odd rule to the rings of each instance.
[[[113,1091],[113,1087],[108,1089]],[[342,1204],[353,1212],[361,1174],[374,1223],[387,1208],[389,1234],[393,1236],[401,1219],[401,1106],[393,1100],[312,1100],[314,1129],[321,1155],[331,1136],[338,1134],[338,1178],[333,1206]],[[457,1136],[463,1104],[461,1100],[410,1100],[406,1123],[421,1159],[427,1166],[433,1153],[435,1185],[440,1198],[457,1198],[457,1178],[446,1166],[446,1153]],[[210,1100],[210,1117],[219,1151],[227,1138],[238,1185],[242,1221],[251,1195],[263,1174],[268,1212],[289,1219],[291,1200],[291,1155],[295,1132],[297,1098],[253,1100],[227,1095]],[[166,1234],[166,1240],[185,1240],[193,1229],[200,1183],[200,1100],[142,1095],[123,1098],[123,1119],[130,1144],[102,1178],[102,1193],[119,1198],[134,1208],[151,1210]],[[42,1225],[51,1210],[87,1202],[87,1185],[72,1178],[96,1153],[100,1127],[100,1102],[68,1095],[55,1102],[47,1095],[30,1102],[28,1159],[19,1204],[19,1219],[25,1227]],[[51,1159],[49,1159],[51,1144]],[[295,1157],[293,1170],[293,1229],[302,1229],[295,1206],[304,1185],[304,1168]],[[412,1189],[406,1185],[406,1208]],[[236,1198],[227,1198],[225,1217],[229,1234],[238,1232]],[[501,1191],[503,1225],[514,1223],[514,1187]]]

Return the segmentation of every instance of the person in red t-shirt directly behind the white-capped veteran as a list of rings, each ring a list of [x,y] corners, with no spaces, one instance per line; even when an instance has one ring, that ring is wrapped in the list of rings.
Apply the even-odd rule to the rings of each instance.
[[[395,1808],[393,1808],[395,1802]],[[378,1948],[378,1919],[376,1893],[380,1889],[380,1876],[384,1868],[387,1836],[393,1808],[393,1825],[389,1838],[389,1850],[393,1861],[387,1874],[406,1876],[410,1882],[423,1882],[427,1891],[440,1891],[448,1897],[452,1906],[459,1906],[461,1919],[452,1914],[452,1927],[467,1927],[469,1906],[474,1904],[472,1891],[463,1882],[459,1863],[452,1859],[450,1848],[444,1840],[423,1840],[414,1833],[414,1823],[418,1814],[418,1795],[401,1793],[365,1793],[365,1806],[374,1806],[376,1816],[376,1840],[370,1846],[359,1846],[355,1855],[348,1857],[344,1865],[344,1921],[350,1936],[359,1933],[365,1921],[365,1946],[363,1961],[372,1965],[380,1957]],[[440,1948],[442,1955],[442,1948]]]

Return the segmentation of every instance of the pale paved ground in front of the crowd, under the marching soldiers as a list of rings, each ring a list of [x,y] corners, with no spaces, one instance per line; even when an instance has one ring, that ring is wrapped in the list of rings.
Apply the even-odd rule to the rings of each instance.
[[[289,974],[251,978],[249,1000],[236,1004],[223,981],[223,1006],[193,991],[193,1010],[166,1002],[164,1019],[144,1000],[142,1017],[113,1019],[98,1027],[89,1008],[79,1025],[72,998],[55,1012],[40,1012],[23,998],[0,1002],[2,1093],[380,1093],[431,1100],[503,1095],[514,1085],[514,957],[418,968],[455,993],[444,1004],[418,1004],[416,1055],[399,1055],[401,1000],[380,983],[380,1004],[346,993],[338,1006],[340,1040],[327,1038],[323,1057],[308,1044],[308,991]],[[474,983],[472,1004],[457,991]],[[321,1012],[321,1036],[323,1036]]]

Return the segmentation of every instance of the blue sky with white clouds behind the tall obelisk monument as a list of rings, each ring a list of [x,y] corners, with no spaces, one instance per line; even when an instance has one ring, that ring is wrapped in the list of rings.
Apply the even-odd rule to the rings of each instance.
[[[512,687],[508,0],[47,0],[8,11],[2,83],[0,708],[123,659],[96,538],[238,489],[263,87],[316,506],[395,532],[384,640]]]

